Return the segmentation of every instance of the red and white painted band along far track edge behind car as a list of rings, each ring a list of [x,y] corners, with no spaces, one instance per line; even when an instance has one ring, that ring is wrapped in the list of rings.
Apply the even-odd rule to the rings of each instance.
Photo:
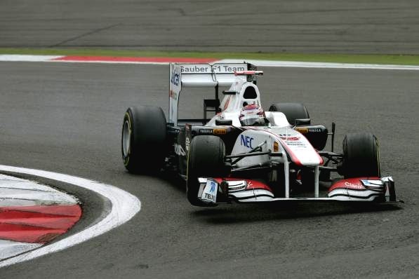
[[[178,63],[241,63],[240,59],[216,60],[213,58],[185,57],[112,57],[80,55],[0,55],[4,62],[72,62],[72,63],[105,63],[105,64],[169,64]],[[418,71],[419,66],[397,64],[357,64],[333,62],[295,62],[276,60],[246,60],[259,67],[299,67],[318,69],[389,69]]]

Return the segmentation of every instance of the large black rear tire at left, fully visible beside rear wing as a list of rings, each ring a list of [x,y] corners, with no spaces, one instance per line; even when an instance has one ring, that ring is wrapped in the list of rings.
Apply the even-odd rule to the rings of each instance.
[[[152,174],[161,169],[167,152],[166,116],[160,107],[126,110],[122,123],[121,152],[128,172]]]

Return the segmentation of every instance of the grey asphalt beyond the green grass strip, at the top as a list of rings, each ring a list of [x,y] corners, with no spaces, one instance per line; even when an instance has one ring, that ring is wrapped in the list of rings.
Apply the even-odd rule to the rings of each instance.
[[[0,47],[419,53],[415,0],[2,0]]]

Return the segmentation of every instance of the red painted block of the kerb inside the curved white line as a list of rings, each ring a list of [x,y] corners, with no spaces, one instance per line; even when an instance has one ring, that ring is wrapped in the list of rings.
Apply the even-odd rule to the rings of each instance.
[[[46,243],[67,232],[80,217],[79,205],[0,207],[0,239]]]

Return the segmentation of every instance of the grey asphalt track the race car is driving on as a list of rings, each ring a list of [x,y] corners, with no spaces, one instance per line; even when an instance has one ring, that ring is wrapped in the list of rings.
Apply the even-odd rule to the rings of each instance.
[[[262,70],[262,104],[304,102],[314,123],[337,123],[338,150],[345,132],[375,133],[383,175],[394,176],[405,203],[193,207],[175,179],[130,175],[121,162],[126,107],[167,113],[167,66],[1,62],[1,164],[113,184],[142,208],[86,243],[1,268],[0,278],[417,278],[419,73]],[[184,116],[201,116],[203,94],[185,91]],[[89,191],[58,186],[88,210],[75,230],[106,207]]]

